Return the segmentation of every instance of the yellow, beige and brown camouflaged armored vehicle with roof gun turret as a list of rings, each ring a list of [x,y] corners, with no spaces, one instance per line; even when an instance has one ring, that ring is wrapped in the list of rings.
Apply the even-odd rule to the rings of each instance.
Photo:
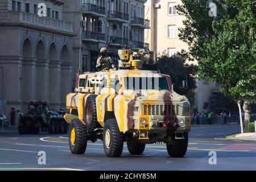
[[[121,156],[124,142],[130,154],[162,142],[171,157],[183,157],[191,130],[189,101],[174,92],[170,76],[142,70],[155,63],[153,52],[122,49],[118,55],[119,70],[83,73],[75,93],[67,95],[71,152],[84,154],[88,140],[100,139],[110,157]]]

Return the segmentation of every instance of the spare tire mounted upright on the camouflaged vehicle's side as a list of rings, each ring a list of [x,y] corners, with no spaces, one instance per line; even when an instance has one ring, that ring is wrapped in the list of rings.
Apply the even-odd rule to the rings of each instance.
[[[98,126],[97,121],[97,109],[96,109],[96,95],[90,95],[85,104],[85,124],[88,133],[92,134]],[[88,114],[89,108],[91,108],[91,114]],[[89,117],[91,115],[91,117]]]

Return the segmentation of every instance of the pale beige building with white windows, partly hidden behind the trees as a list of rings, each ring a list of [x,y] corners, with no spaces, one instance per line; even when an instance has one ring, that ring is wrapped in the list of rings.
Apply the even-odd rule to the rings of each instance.
[[[156,53],[165,52],[172,56],[181,49],[189,51],[189,46],[178,37],[178,28],[183,27],[184,20],[176,12],[175,6],[180,3],[181,0],[147,0],[145,3],[145,18],[150,20],[150,29],[145,31],[145,43]],[[208,112],[209,98],[214,89],[217,89],[216,83],[197,80],[192,109]]]

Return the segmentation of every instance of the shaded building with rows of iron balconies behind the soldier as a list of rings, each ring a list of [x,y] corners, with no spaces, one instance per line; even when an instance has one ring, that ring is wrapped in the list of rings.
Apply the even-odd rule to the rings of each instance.
[[[146,0],[80,0],[64,6],[64,16],[74,23],[74,71],[96,71],[100,48],[106,47],[115,64],[118,49],[131,46],[144,48]],[[79,61],[80,60],[80,61]],[[80,63],[80,66],[79,66]],[[75,81],[75,80],[74,80]]]

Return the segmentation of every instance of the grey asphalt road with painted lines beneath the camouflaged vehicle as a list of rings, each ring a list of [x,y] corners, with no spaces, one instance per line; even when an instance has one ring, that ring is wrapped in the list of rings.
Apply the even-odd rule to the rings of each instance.
[[[147,144],[143,155],[130,155],[126,143],[120,158],[108,158],[101,141],[88,143],[84,155],[69,151],[67,135],[0,134],[0,170],[256,170],[256,142],[221,139],[239,125],[193,126],[184,158],[170,158],[165,144]],[[38,152],[46,164],[38,164]],[[216,151],[217,164],[209,164]]]

